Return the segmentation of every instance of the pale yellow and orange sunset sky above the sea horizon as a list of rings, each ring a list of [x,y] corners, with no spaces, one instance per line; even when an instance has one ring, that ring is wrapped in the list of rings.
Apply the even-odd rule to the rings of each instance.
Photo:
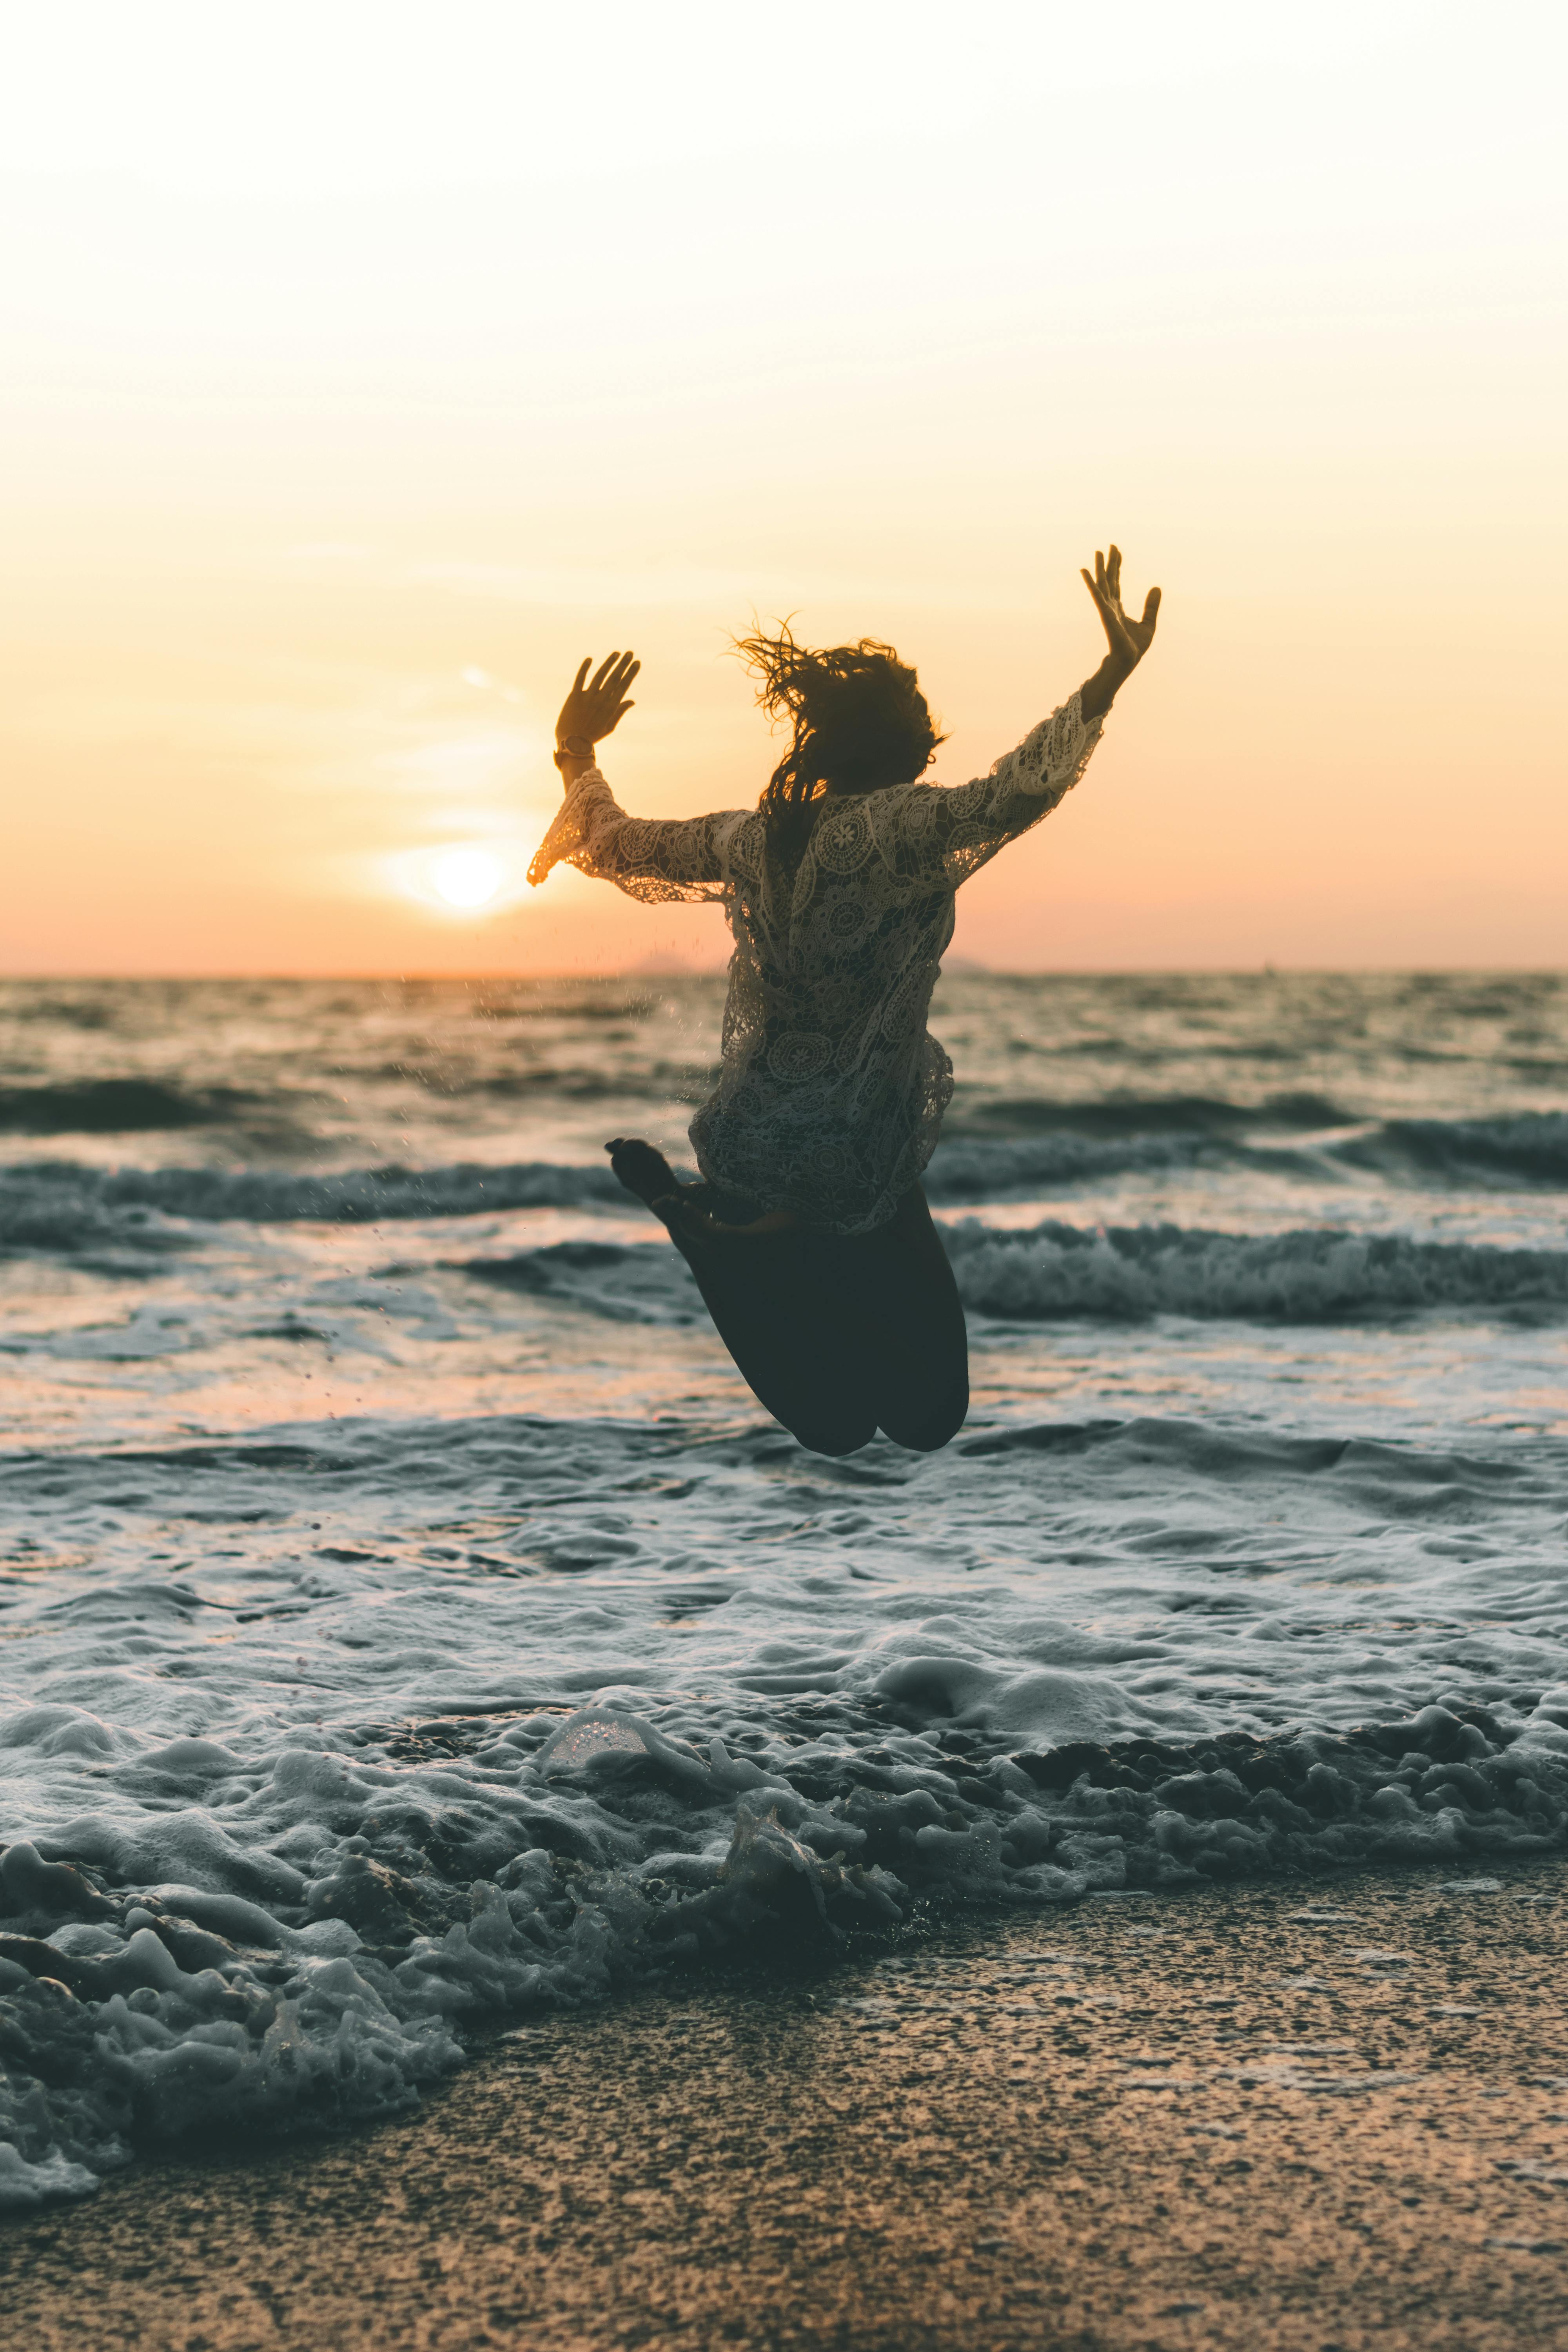
[[[0,969],[715,962],[522,868],[632,644],[644,814],[776,757],[755,614],[985,769],[1013,969],[1563,964],[1554,7],[0,14]],[[489,889],[480,908],[456,896]]]

